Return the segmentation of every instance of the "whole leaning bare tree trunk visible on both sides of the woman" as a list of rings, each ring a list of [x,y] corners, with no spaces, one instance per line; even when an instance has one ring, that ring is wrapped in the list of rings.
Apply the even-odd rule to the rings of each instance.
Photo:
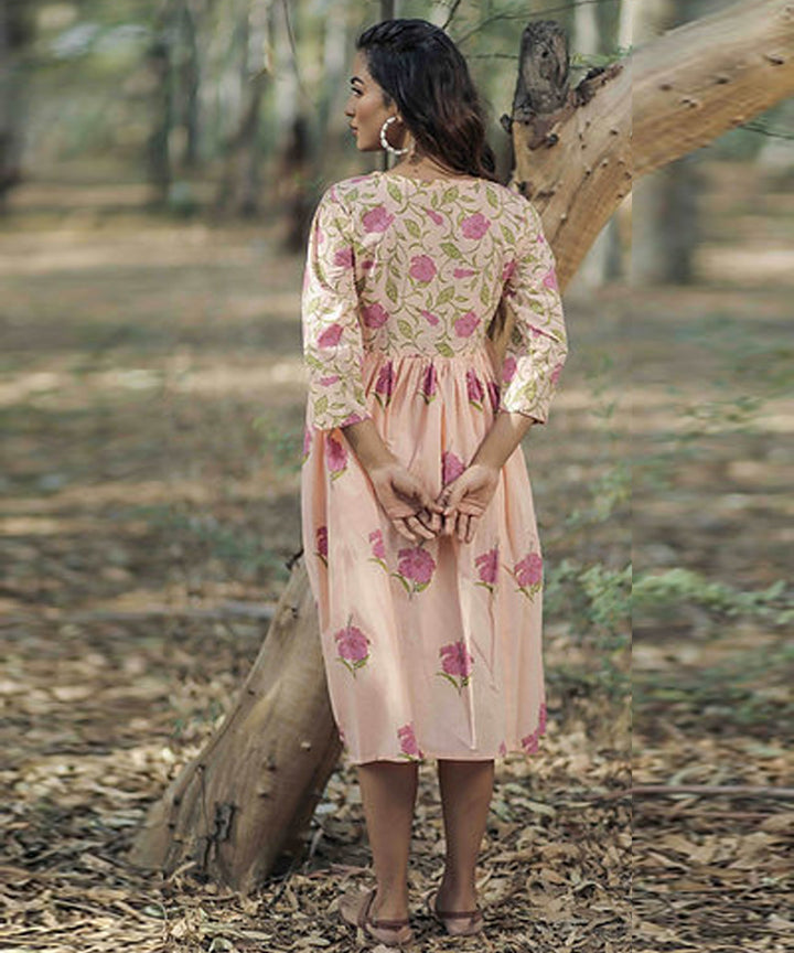
[[[633,63],[597,72],[573,93],[565,36],[554,24],[527,28],[534,39],[522,45],[514,188],[543,214],[562,289],[631,188],[630,73],[640,117],[635,167],[645,174],[708,141],[705,129],[713,138],[734,125],[726,93],[742,104],[742,119],[791,93],[793,17],[792,0],[741,3],[667,33]],[[696,95],[684,97],[682,88],[698,90],[697,109],[682,111],[682,99]],[[296,843],[339,753],[301,560],[239,700],[154,806],[132,859],[169,871],[195,858],[212,877],[247,892],[267,878],[282,847]]]

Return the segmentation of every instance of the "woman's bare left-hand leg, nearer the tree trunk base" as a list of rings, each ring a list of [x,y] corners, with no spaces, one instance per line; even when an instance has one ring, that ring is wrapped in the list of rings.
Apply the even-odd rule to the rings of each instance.
[[[408,853],[417,783],[416,762],[371,761],[358,765],[378,888],[372,909],[376,920],[400,920],[408,915]]]

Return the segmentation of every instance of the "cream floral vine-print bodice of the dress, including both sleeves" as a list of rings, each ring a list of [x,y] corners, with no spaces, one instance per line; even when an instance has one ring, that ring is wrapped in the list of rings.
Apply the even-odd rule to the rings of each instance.
[[[543,424],[568,343],[554,255],[533,205],[483,179],[373,172],[330,186],[303,276],[309,422],[332,429],[371,416],[365,360],[465,362],[486,346],[500,300],[515,320],[495,368],[498,409]]]

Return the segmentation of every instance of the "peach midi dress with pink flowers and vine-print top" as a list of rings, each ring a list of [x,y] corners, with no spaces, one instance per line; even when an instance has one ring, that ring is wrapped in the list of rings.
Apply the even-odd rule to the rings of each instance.
[[[515,326],[495,368],[502,298]],[[543,555],[522,448],[471,543],[412,544],[341,428],[371,418],[434,497],[500,409],[546,422],[568,349],[539,215],[482,179],[345,179],[315,211],[301,310],[303,549],[347,760],[532,754]]]

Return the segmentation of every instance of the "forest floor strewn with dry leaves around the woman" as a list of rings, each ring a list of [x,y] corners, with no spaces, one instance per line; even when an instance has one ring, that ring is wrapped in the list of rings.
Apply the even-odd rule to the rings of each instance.
[[[419,907],[443,859],[421,765],[417,950],[791,949],[794,197],[709,169],[699,283],[566,296],[568,364],[525,451],[549,578],[568,567],[587,598],[548,592],[549,728],[497,763],[484,936]],[[251,897],[126,860],[300,548],[304,394],[280,225],[142,197],[31,183],[0,222],[0,953],[355,950],[337,896],[372,870],[344,762],[305,854]]]

